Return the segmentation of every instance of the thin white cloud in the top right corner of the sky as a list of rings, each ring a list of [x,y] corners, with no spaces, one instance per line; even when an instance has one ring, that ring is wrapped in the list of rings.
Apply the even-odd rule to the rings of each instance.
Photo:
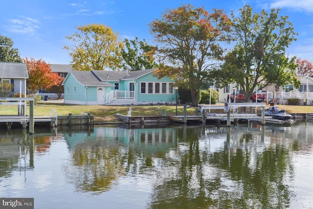
[[[285,7],[296,11],[313,12],[313,0],[275,0],[270,4],[270,7]]]

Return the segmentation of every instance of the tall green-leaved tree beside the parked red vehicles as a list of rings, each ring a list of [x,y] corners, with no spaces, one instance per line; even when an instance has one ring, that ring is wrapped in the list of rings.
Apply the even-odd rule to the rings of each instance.
[[[249,5],[239,10],[233,19],[233,38],[237,40],[219,70],[213,76],[220,86],[235,82],[245,93],[248,102],[256,87],[264,88],[272,83],[283,86],[289,82],[296,88],[299,81],[295,76],[295,57],[286,56],[286,48],[295,41],[288,17],[279,17],[279,9],[268,14],[252,12]]]

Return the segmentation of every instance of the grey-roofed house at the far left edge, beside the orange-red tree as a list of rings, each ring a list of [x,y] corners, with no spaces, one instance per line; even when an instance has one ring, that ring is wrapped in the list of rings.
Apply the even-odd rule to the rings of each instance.
[[[0,62],[0,78],[1,83],[9,83],[13,85],[12,92],[26,94],[26,79],[28,78],[28,71],[25,63],[3,63]]]

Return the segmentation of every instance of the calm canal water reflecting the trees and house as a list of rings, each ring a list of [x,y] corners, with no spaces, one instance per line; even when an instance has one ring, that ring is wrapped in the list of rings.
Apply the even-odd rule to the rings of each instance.
[[[312,127],[2,130],[0,197],[36,209],[309,209]]]

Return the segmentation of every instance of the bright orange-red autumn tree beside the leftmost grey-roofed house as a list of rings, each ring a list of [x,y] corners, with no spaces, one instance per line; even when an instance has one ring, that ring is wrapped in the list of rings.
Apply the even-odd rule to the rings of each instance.
[[[58,73],[52,72],[50,65],[42,59],[24,58],[27,66],[27,94],[35,94],[40,89],[48,89],[53,85],[58,85],[60,76]]]

